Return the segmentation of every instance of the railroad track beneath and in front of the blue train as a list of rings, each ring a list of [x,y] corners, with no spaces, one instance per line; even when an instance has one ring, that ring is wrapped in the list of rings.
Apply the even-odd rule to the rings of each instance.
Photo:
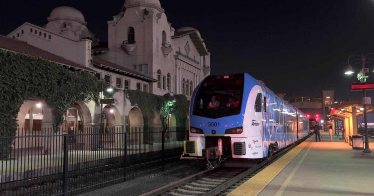
[[[251,168],[233,168],[218,167],[214,170],[205,170],[174,183],[160,187],[153,191],[144,193],[140,196],[224,196],[229,194],[241,184],[245,183],[249,178],[256,175],[262,169],[281,158],[286,152],[297,146],[311,135],[288,146],[276,154],[269,160],[261,161]]]

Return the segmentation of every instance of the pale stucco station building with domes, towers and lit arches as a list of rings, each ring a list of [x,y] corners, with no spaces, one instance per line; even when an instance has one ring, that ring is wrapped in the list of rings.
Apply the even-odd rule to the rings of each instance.
[[[197,29],[171,26],[159,0],[125,0],[114,15],[108,21],[108,42],[96,38],[79,10],[63,6],[52,10],[43,27],[25,22],[6,37],[0,36],[0,49],[95,74],[119,89],[114,94],[116,103],[104,105],[104,126],[142,127],[142,111],[131,106],[123,90],[173,92],[190,99],[196,85],[210,74],[210,53]],[[43,100],[28,100],[19,112],[19,127],[30,133],[51,127],[50,116]],[[72,104],[64,118],[65,132],[99,127],[100,105],[93,101]],[[173,118],[174,114],[175,125]],[[151,113],[150,126],[161,126],[159,111]]]

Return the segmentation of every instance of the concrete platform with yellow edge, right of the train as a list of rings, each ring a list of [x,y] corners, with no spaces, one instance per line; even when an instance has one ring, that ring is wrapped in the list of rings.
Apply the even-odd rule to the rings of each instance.
[[[237,187],[229,196],[374,195],[374,156],[329,134],[323,142],[313,135],[261,172]],[[374,149],[374,139],[370,138]]]

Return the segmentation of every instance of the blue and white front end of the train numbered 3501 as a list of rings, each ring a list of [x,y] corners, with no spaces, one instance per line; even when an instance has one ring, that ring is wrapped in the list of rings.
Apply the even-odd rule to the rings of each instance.
[[[262,158],[261,113],[254,112],[258,92],[261,87],[248,74],[206,77],[191,97],[182,158],[205,159],[209,168],[229,157]]]

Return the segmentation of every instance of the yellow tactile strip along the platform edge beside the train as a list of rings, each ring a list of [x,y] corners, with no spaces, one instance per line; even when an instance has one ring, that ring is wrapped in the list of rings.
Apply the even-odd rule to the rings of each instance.
[[[312,140],[312,137],[303,141],[294,149],[283,155],[277,161],[258,172],[254,177],[237,187],[228,196],[255,196],[282,171],[289,162]]]

